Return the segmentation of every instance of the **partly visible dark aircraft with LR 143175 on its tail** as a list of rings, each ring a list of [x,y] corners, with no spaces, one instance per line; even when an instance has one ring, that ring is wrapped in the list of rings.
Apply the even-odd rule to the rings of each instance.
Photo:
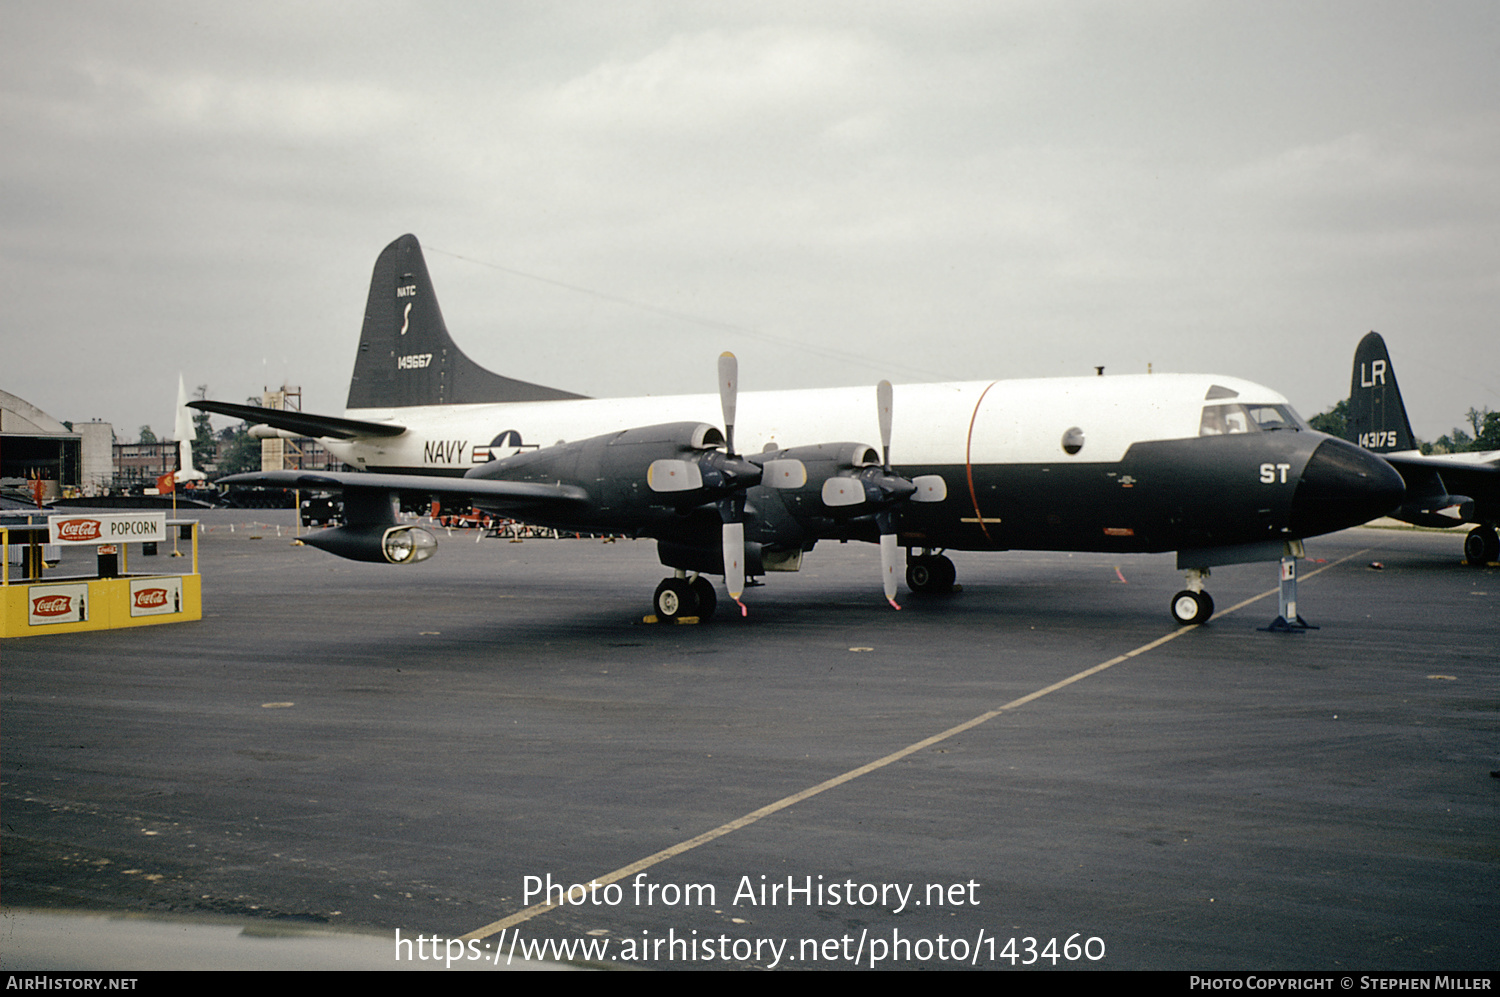
[[[1380,333],[1354,349],[1346,436],[1380,454],[1406,483],[1390,516],[1416,526],[1474,523],[1464,537],[1468,564],[1500,561],[1500,451],[1424,456],[1407,420],[1390,352]]]

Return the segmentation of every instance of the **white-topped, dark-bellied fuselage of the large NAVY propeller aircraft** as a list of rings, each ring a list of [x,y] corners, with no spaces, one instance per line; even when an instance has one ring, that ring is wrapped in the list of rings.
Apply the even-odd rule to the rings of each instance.
[[[900,508],[896,522],[904,546],[1216,547],[1340,529],[1378,516],[1390,501],[1389,468],[1360,460],[1356,448],[1322,433],[1294,426],[1263,430],[1240,421],[1227,432],[1203,435],[1206,406],[1232,402],[1290,411],[1282,396],[1238,378],[918,384],[897,387],[894,402],[896,472],[908,478],[936,474],[946,483],[945,501]],[[720,421],[718,399],[711,394],[351,409],[346,417],[399,417],[408,432],[388,439],[330,441],[340,459],[368,471],[426,475],[484,475],[492,460],[644,424]],[[736,448],[752,456],[819,441],[868,442],[878,439],[872,390],[744,393],[735,432]],[[1324,478],[1341,478],[1338,502],[1329,507],[1328,495],[1308,487],[1299,499],[1310,462],[1318,453],[1318,465],[1326,463],[1329,448],[1342,448],[1340,459],[1347,465],[1323,469]],[[604,487],[603,481],[594,484]],[[1360,505],[1364,492],[1366,504]],[[783,544],[798,540],[788,537],[782,508],[795,502],[795,495],[758,487],[748,502],[752,523],[777,523],[776,538]],[[628,522],[621,522],[610,516],[615,507],[604,502],[540,513],[534,522],[657,538],[690,538],[717,528],[717,520],[694,523],[666,504],[645,519],[636,507]],[[840,528],[824,525],[802,541],[830,534],[840,535]],[[849,523],[843,535],[873,540],[874,531],[870,523]],[[756,538],[753,525],[748,537]]]

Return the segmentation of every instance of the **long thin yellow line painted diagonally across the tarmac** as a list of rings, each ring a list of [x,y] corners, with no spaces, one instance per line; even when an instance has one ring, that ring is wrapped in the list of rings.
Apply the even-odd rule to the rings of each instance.
[[[1306,574],[1300,576],[1300,579],[1311,579],[1312,576],[1322,574],[1323,571],[1328,571],[1329,568],[1335,568],[1335,567],[1344,564],[1346,561],[1353,561],[1354,558],[1358,558],[1358,556],[1360,556],[1364,553],[1368,553],[1368,549],[1366,550],[1356,550],[1354,553],[1352,553],[1352,555],[1348,555],[1346,558],[1340,558],[1338,561],[1334,561],[1330,564],[1324,564],[1322,568],[1317,568],[1316,571],[1308,571]],[[1224,610],[1220,610],[1220,612],[1214,613],[1214,619],[1220,619],[1221,616],[1228,616],[1230,613],[1233,613],[1236,610],[1245,609],[1251,603],[1258,603],[1260,600],[1263,600],[1263,598],[1266,598],[1269,595],[1275,595],[1276,591],[1278,589],[1268,589],[1268,591],[1262,592],[1260,595],[1251,595],[1250,598],[1246,598],[1244,601],[1234,603],[1228,609],[1224,609]],[[1024,706],[1026,703],[1035,702],[1035,700],[1041,699],[1042,696],[1047,696],[1050,693],[1056,693],[1058,690],[1066,688],[1066,687],[1072,685],[1074,682],[1082,682],[1083,679],[1086,679],[1089,676],[1094,676],[1094,675],[1098,675],[1100,672],[1104,672],[1106,669],[1113,669],[1116,664],[1120,664],[1124,661],[1130,661],[1131,658],[1143,655],[1148,651],[1154,651],[1154,649],[1160,648],[1161,645],[1167,643],[1168,640],[1176,640],[1178,637],[1197,630],[1200,625],[1202,624],[1190,624],[1186,627],[1180,627],[1180,628],[1172,631],[1170,634],[1164,634],[1161,637],[1156,637],[1150,643],[1143,643],[1142,646],[1136,648],[1134,651],[1126,651],[1125,654],[1113,657],[1108,661],[1104,661],[1102,664],[1095,664],[1092,669],[1084,669],[1083,672],[1078,672],[1077,675],[1070,675],[1068,678],[1062,679],[1060,682],[1053,682],[1052,685],[1048,685],[1046,688],[1040,688],[1035,693],[1028,693],[1026,696],[1022,696],[1020,699],[1012,699],[1011,702],[1005,703],[1004,706],[998,706],[998,708],[994,708],[994,709],[992,709],[988,712],[980,714],[974,720],[963,721],[957,727],[950,727],[948,730],[944,730],[942,733],[936,733],[932,738],[924,738],[922,741],[918,741],[916,744],[909,744],[904,748],[902,748],[900,751],[892,751],[891,754],[888,754],[888,756],[885,756],[882,759],[876,759],[874,762],[867,762],[866,765],[861,765],[856,769],[849,769],[848,772],[844,772],[842,775],[836,775],[831,780],[825,780],[825,781],[822,781],[822,783],[819,783],[816,786],[808,786],[807,789],[804,789],[801,792],[796,792],[796,793],[792,793],[790,796],[783,796],[782,799],[776,801],[774,804],[766,804],[760,810],[752,810],[748,814],[744,814],[742,817],[736,817],[735,820],[730,820],[726,825],[718,825],[712,831],[705,831],[704,834],[698,835],[696,838],[688,838],[687,841],[680,841],[680,843],[676,843],[676,844],[674,844],[670,847],[666,847],[666,849],[662,849],[660,852],[648,855],[644,859],[638,859],[638,861],[632,862],[630,865],[622,865],[621,868],[615,870],[614,873],[606,873],[603,876],[597,876],[592,880],[590,880],[590,883],[597,883],[598,886],[609,886],[610,883],[616,883],[616,882],[620,882],[620,880],[622,880],[622,879],[626,879],[628,876],[634,876],[636,873],[645,871],[645,870],[651,868],[652,865],[660,865],[662,862],[666,862],[668,859],[676,858],[678,855],[682,855],[684,852],[692,852],[693,849],[696,849],[699,846],[704,846],[704,844],[708,844],[710,841],[716,841],[718,838],[723,838],[724,835],[734,834],[735,831],[740,831],[741,828],[748,828],[750,825],[753,825],[754,822],[760,820],[762,817],[770,817],[771,814],[783,811],[788,807],[795,807],[796,804],[801,804],[806,799],[812,799],[813,796],[818,796],[819,793],[831,790],[831,789],[834,789],[837,786],[843,786],[844,783],[852,783],[854,780],[860,778],[861,775],[868,775],[870,772],[876,772],[879,769],[884,769],[888,765],[891,765],[894,762],[900,762],[902,759],[904,759],[908,756],[916,754],[918,751],[921,751],[924,748],[930,748],[934,744],[940,744],[940,742],[944,742],[944,741],[946,741],[950,738],[962,735],[964,730],[972,730],[974,727],[978,727],[980,724],[984,724],[984,723],[988,723],[988,721],[994,720],[1000,714],[1005,714],[1005,712],[1010,712],[1012,709],[1017,709],[1018,706]],[[468,942],[471,939],[472,940],[488,939],[490,936],[500,934],[506,928],[514,928],[519,924],[531,921],[532,918],[536,918],[538,915],[544,915],[549,910],[555,910],[558,907],[561,907],[561,904],[554,904],[554,903],[532,904],[531,907],[526,907],[525,910],[518,910],[516,913],[510,915],[508,918],[501,918],[500,921],[490,922],[490,924],[484,925],[483,928],[476,928],[474,931],[470,931],[468,934],[460,936],[460,940]]]

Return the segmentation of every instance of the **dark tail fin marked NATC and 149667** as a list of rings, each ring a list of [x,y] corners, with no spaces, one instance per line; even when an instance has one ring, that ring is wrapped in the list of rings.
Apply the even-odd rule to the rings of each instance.
[[[348,408],[578,397],[584,396],[502,378],[470,360],[448,337],[417,237],[402,235],[381,252],[364,304]]]

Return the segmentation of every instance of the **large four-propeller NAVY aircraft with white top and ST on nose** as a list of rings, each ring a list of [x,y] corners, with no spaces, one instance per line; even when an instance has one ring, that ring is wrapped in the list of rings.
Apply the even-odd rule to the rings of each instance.
[[[345,525],[312,546],[424,559],[436,541],[398,522],[402,495],[652,538],[674,571],[652,601],[662,618],[714,612],[702,576],[722,574],[738,603],[747,576],[795,571],[822,540],[860,540],[879,544],[892,606],[903,547],[915,592],[952,589],[945,550],[1176,550],[1188,588],[1172,613],[1196,624],[1214,612],[1212,565],[1276,561],[1404,493],[1384,460],[1238,378],[882,382],[872,399],[740,394],[728,354],[718,375],[718,394],[588,399],[486,370],[448,337],[422,247],[402,235],[375,262],[344,417],[192,406],[262,435],[318,436],[362,469],[224,480],[342,490]],[[860,442],[873,436],[879,448]]]

